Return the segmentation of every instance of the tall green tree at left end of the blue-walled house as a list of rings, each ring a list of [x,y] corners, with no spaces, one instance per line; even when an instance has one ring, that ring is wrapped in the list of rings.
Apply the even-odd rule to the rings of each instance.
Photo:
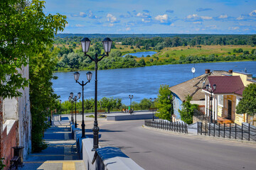
[[[156,102],[156,107],[158,108],[156,116],[164,119],[171,120],[171,115],[174,114],[171,91],[168,85],[161,85],[159,88],[159,94],[157,95],[158,101]]]

